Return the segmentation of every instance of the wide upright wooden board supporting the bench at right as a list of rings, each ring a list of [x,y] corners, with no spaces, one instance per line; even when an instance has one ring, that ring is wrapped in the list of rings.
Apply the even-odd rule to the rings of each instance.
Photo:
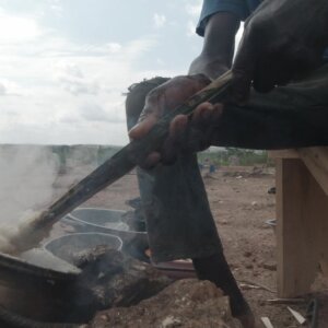
[[[305,294],[328,255],[328,198],[301,160],[277,160],[278,295]]]

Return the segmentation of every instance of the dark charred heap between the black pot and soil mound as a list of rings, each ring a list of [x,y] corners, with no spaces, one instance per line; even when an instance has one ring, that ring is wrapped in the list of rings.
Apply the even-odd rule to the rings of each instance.
[[[149,263],[108,246],[75,254],[72,263],[82,270],[77,308],[87,317],[96,311],[138,304],[172,283]]]

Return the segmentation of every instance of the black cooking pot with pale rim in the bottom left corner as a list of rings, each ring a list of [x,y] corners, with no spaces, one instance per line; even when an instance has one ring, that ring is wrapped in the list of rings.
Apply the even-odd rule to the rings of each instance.
[[[66,321],[74,311],[70,300],[80,276],[78,268],[71,268],[43,267],[0,254],[0,304],[36,320]]]

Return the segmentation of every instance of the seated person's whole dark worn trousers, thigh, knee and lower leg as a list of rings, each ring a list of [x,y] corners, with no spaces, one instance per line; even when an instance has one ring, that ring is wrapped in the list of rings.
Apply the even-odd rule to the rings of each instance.
[[[128,128],[139,118],[147,93],[166,79],[136,84],[127,97]],[[226,104],[216,144],[250,149],[328,145],[328,65],[304,81],[269,94],[251,92],[247,106]],[[138,169],[154,261],[208,257],[222,251],[195,154],[172,166]]]

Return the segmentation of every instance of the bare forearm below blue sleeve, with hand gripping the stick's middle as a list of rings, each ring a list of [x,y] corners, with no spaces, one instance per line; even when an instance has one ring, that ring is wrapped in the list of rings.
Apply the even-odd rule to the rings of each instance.
[[[191,62],[188,74],[176,77],[160,87],[154,89],[147,97],[144,109],[140,116],[140,122],[129,132],[131,139],[139,139],[147,134],[154,126],[159,117],[165,110],[171,110],[184,103],[188,97],[203,89],[210,80],[224,73],[232,65],[234,54],[235,34],[239,27],[239,20],[234,14],[216,13],[212,15],[207,24],[204,42],[201,54]],[[199,106],[195,118],[204,114],[204,119],[211,121],[221,115],[221,105],[203,103]],[[210,115],[209,115],[210,114]],[[153,165],[159,161],[172,162],[175,151],[172,142],[175,143],[175,132],[179,132],[186,125],[187,118],[177,117],[171,130],[173,133],[166,142],[163,151],[151,154],[143,166]],[[197,125],[197,120],[195,120]],[[203,121],[201,122],[203,126]],[[209,147],[208,143],[201,145],[202,149]]]

